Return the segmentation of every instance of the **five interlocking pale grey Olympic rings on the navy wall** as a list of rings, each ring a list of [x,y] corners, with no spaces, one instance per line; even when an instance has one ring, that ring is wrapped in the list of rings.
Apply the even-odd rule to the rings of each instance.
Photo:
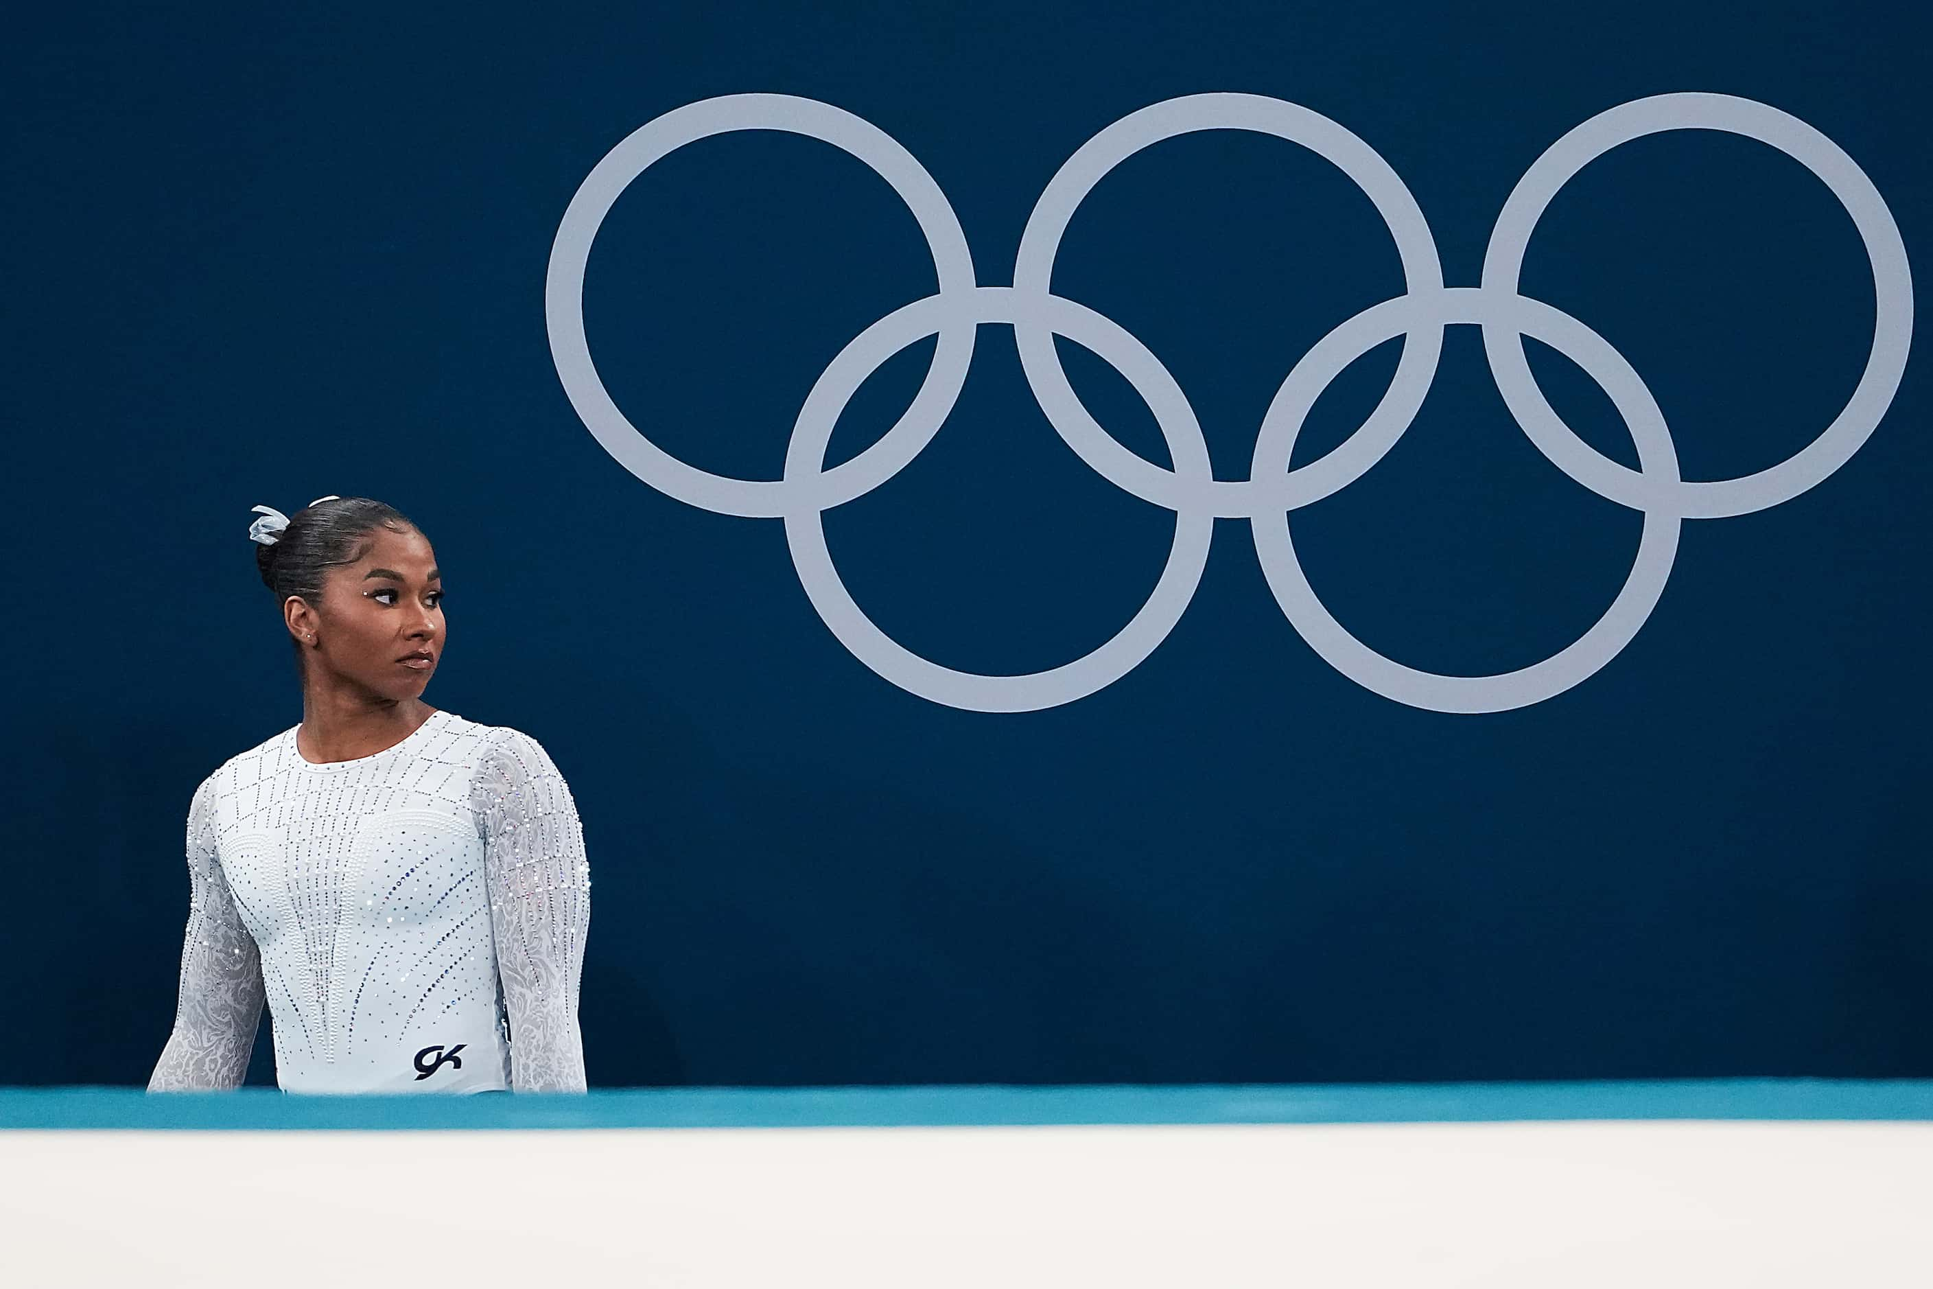
[[[619,193],[673,149],[735,129],[781,129],[823,139],[872,166],[907,203],[934,255],[939,290],[860,332],[806,394],[781,479],[735,479],[696,470],[657,448],[597,379],[584,338],[584,265]],[[1365,309],[1324,336],[1276,390],[1247,479],[1216,479],[1187,396],[1162,361],[1100,313],[1050,290],[1053,257],[1075,209],[1113,166],[1140,149],[1195,129],[1251,129],[1299,143],[1343,170],[1396,238],[1405,294]],[[1517,294],[1517,272],[1537,220],[1558,189],[1602,153],[1666,129],[1722,129],[1786,153],[1852,215],[1873,269],[1873,348],[1852,398],[1831,425],[1788,460],[1736,479],[1688,481],[1670,429],[1630,363],[1585,323]],[[789,95],[706,99],[640,126],[586,176],[564,211],[545,280],[551,358],[570,404],[597,443],[634,475],[682,502],[719,514],[777,518],[793,564],[833,636],[899,688],[970,711],[1038,711],[1102,690],[1154,651],[1195,595],[1216,518],[1245,518],[1282,613],[1309,645],[1357,684],[1430,711],[1508,711],[1539,703],[1610,663],[1651,616],[1678,553],[1684,520],[1749,514],[1790,501],[1860,450],[1892,402],[1912,340],[1914,300],[1906,245],[1865,172],[1823,133],[1773,106],[1728,95],[1637,99],[1583,122],[1537,158],[1490,232],[1481,286],[1444,286],[1436,243],[1415,197],[1363,139],[1309,108],[1260,95],[1168,99],[1113,122],[1059,168],[1021,236],[1013,286],[980,286],[953,207],[914,157],[851,112]],[[1175,537],[1154,593],[1092,653],[1021,676],[939,667],[881,632],[852,601],[825,547],[822,516],[880,487],[932,441],[966,379],[982,323],[1011,323],[1028,387],[1048,421],[1082,462],[1115,487],[1175,514]],[[1423,406],[1444,327],[1483,329],[1504,402],[1531,443],[1573,481],[1643,512],[1643,535],[1624,587],[1581,638],[1552,657],[1494,676],[1444,676],[1403,667],[1351,636],[1316,597],[1295,557],[1289,512],[1316,502],[1382,460]],[[825,470],[833,423],[858,387],[909,344],[938,334],[932,367],[893,427],[852,460]],[[1173,458],[1164,470],[1121,446],[1075,396],[1053,336],[1092,350],[1127,377],[1154,412]],[[1363,425],[1326,456],[1289,470],[1295,435],[1316,396],[1370,348],[1403,338],[1388,392]],[[1523,336],[1556,348],[1595,379],[1637,444],[1639,470],[1591,448],[1550,408],[1523,356]]]

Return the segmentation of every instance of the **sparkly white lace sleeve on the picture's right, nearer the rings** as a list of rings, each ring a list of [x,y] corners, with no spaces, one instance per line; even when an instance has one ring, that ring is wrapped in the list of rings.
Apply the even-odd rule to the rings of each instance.
[[[578,976],[591,866],[570,787],[543,744],[505,727],[477,765],[470,804],[510,1017],[510,1088],[584,1092]]]

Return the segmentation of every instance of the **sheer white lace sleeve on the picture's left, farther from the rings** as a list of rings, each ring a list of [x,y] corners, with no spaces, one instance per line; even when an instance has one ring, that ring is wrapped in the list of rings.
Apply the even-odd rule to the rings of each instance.
[[[174,1030],[147,1080],[149,1092],[224,1090],[242,1084],[261,1024],[261,957],[242,926],[215,858],[213,777],[188,808],[188,933]]]

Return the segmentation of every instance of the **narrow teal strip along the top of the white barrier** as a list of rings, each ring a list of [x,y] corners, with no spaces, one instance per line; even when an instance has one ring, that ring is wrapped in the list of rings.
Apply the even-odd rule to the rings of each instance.
[[[1933,1121],[1933,1080],[599,1088],[584,1096],[288,1096],[0,1088],[0,1129],[831,1129],[1535,1119]]]

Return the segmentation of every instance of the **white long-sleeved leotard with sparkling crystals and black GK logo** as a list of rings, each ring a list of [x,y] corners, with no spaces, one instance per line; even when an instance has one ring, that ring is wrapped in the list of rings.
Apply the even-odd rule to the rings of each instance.
[[[240,1084],[265,999],[286,1092],[584,1090],[590,864],[543,746],[433,711],[392,748],[315,763],[296,729],[195,788],[149,1090]]]

